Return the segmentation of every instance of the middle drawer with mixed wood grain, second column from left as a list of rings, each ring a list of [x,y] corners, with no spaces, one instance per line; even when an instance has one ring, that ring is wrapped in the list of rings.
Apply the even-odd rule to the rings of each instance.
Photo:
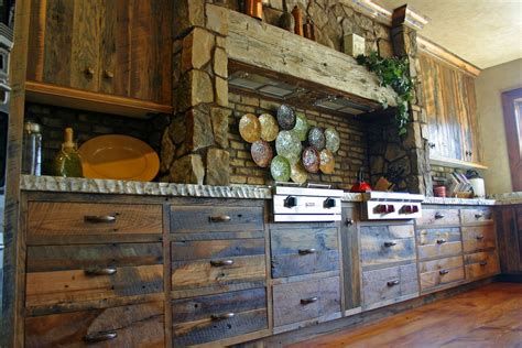
[[[172,290],[263,281],[264,238],[173,241]]]

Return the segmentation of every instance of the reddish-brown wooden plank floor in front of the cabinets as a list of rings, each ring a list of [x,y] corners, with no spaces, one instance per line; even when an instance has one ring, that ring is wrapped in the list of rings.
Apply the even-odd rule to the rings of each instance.
[[[492,283],[290,347],[522,347],[522,284]]]

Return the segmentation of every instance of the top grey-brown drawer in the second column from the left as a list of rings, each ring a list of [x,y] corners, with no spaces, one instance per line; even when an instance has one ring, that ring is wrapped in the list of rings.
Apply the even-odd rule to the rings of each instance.
[[[263,207],[172,206],[171,232],[248,232],[263,230]]]

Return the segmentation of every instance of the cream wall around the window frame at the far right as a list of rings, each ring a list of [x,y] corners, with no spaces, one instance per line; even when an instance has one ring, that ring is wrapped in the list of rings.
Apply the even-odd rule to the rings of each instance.
[[[500,94],[522,87],[522,58],[483,69],[476,79],[477,113],[487,194],[512,192]]]

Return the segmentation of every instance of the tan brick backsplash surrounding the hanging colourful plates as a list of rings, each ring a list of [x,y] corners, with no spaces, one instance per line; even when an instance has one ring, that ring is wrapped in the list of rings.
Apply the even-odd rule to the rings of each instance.
[[[239,119],[246,112],[258,116],[268,112],[275,116],[280,105],[280,102],[263,98],[229,93],[229,107],[232,109],[229,118],[231,184],[265,185],[273,183],[270,168],[261,168],[252,161],[250,144],[241,139],[238,127]],[[334,127],[341,139],[340,149],[335,155],[335,172],[331,175],[309,174],[308,182],[349,189],[357,181],[357,171],[361,166],[365,177],[368,178],[367,126],[362,121],[316,110],[304,110],[298,106],[294,107],[297,111],[305,112],[311,124],[322,128]],[[275,149],[273,150],[275,154]]]

